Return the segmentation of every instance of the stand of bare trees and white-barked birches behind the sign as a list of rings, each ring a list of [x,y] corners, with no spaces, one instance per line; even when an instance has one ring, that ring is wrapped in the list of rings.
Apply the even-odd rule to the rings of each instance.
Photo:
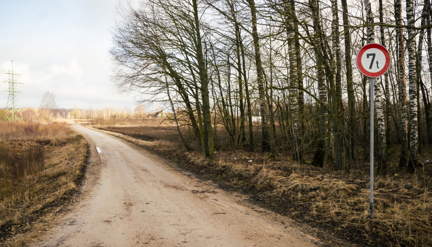
[[[113,81],[165,103],[184,147],[181,125],[209,159],[215,148],[260,149],[347,172],[368,160],[370,80],[354,59],[369,43],[391,55],[374,79],[376,171],[400,145],[399,167],[415,172],[432,141],[429,0],[143,0],[119,13]]]

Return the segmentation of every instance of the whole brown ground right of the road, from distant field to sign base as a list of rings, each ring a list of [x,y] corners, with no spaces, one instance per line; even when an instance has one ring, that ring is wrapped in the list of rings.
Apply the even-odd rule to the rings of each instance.
[[[203,159],[199,144],[186,152],[174,127],[94,127],[124,134],[129,141],[130,137],[143,140],[132,141],[176,160],[202,178],[212,179],[226,189],[240,190],[255,203],[306,224],[303,231],[331,245],[432,245],[432,167],[419,167],[414,176],[405,174],[396,165],[397,146],[388,150],[388,175],[375,177],[375,219],[371,220],[369,166],[363,160],[356,159],[350,173],[334,171],[327,163],[322,169],[298,164],[284,153],[269,158],[268,153],[221,149],[216,151],[216,161],[209,161]],[[419,160],[430,158],[428,150],[432,147],[423,147]],[[362,155],[356,153],[356,157]]]

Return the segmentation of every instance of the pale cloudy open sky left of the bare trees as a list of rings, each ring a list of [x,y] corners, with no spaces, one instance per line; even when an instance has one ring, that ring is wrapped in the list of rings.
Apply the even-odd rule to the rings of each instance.
[[[59,108],[129,106],[110,81],[113,63],[110,30],[121,0],[1,0],[0,81],[11,60],[20,74],[21,107],[39,107],[53,92]],[[0,107],[6,107],[8,84],[0,82]]]

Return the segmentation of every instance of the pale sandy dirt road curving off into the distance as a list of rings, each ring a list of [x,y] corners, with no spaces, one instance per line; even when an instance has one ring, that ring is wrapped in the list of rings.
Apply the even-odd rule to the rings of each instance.
[[[74,128],[97,150],[100,174],[85,184],[86,196],[63,222],[29,246],[317,246],[314,238],[238,204],[238,195],[109,134]]]

